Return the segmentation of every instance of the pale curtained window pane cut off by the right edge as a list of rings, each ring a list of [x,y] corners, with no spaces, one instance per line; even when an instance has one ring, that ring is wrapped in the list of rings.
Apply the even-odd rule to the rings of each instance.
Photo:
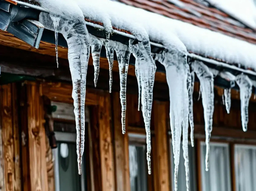
[[[256,147],[235,145],[236,191],[256,190]]]

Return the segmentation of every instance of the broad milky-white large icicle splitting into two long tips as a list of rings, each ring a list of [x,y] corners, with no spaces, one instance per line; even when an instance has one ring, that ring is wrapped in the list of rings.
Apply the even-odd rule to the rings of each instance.
[[[165,50],[156,55],[156,60],[165,66],[166,78],[170,94],[170,123],[174,153],[174,184],[177,191],[178,165],[180,155],[181,133],[183,129],[183,152],[186,169],[186,185],[188,186],[188,115],[189,98],[187,89],[187,55],[186,51],[177,49]],[[188,190],[188,187],[187,187]]]

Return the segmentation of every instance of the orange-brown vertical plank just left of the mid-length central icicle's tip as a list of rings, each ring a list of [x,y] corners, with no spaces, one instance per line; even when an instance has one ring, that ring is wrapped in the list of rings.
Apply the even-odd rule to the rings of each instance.
[[[102,191],[114,191],[113,145],[110,130],[110,97],[109,94],[99,97],[98,123],[100,130],[100,155]]]

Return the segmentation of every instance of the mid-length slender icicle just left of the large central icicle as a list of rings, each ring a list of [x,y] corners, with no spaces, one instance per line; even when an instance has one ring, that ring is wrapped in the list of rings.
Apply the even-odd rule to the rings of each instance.
[[[119,76],[120,76],[120,100],[122,106],[122,132],[125,134],[125,114],[126,114],[126,81],[129,67],[130,52],[128,46],[117,43],[115,51],[118,59]]]

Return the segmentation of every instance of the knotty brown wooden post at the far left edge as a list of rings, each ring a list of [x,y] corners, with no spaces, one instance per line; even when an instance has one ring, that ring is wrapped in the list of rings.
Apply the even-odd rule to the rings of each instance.
[[[6,191],[21,190],[20,145],[15,84],[1,86],[1,119],[4,187]],[[1,185],[2,187],[2,185]]]

